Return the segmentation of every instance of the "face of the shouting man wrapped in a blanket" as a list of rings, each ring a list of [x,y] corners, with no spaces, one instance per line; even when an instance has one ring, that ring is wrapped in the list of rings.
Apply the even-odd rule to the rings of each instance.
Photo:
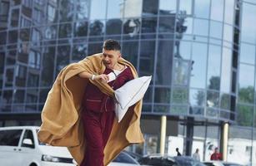
[[[120,51],[103,49],[103,63],[108,69],[113,69],[120,58]]]

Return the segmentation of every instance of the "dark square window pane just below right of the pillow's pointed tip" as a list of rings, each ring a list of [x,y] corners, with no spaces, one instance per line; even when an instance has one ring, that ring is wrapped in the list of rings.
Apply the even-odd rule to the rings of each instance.
[[[154,103],[170,103],[171,89],[170,88],[158,88],[154,89]]]

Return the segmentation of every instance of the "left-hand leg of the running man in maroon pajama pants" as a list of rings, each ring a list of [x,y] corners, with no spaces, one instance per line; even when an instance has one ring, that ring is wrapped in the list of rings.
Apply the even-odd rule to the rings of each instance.
[[[83,114],[83,127],[86,139],[86,153],[81,166],[103,166],[103,135],[101,113],[87,110]]]

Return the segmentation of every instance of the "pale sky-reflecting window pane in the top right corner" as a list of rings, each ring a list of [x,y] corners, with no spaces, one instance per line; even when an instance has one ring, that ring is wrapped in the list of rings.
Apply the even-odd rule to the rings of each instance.
[[[242,11],[241,39],[242,41],[256,43],[256,26],[253,24],[255,22],[256,6],[243,3]]]

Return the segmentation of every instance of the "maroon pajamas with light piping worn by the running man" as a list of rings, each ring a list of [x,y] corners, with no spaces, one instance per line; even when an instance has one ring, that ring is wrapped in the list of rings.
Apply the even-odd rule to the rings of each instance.
[[[112,72],[106,69],[104,74]],[[132,71],[126,68],[115,81],[108,83],[113,90],[133,79]],[[113,98],[103,94],[97,86],[88,83],[83,97],[82,112],[86,152],[81,166],[103,166],[104,148],[108,142],[115,118]]]

